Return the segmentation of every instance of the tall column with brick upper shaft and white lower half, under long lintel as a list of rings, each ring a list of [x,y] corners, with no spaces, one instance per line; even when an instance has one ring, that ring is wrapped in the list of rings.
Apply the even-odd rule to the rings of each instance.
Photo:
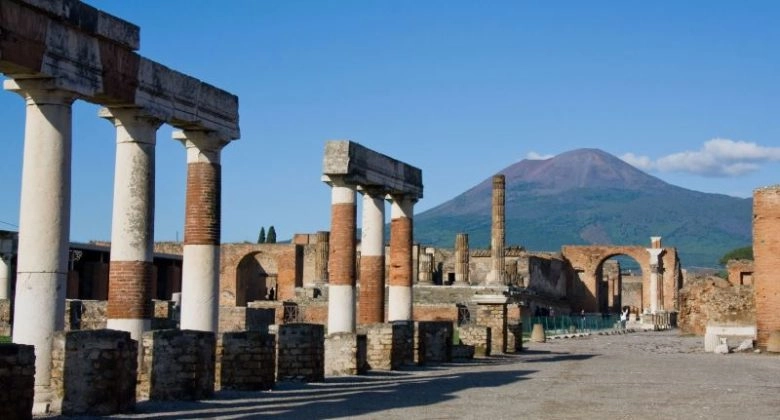
[[[177,131],[187,149],[187,198],[181,277],[181,329],[216,332],[225,142],[203,131]]]

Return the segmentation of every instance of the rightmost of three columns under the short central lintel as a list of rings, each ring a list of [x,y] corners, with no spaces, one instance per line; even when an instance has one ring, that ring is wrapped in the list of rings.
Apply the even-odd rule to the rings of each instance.
[[[414,200],[392,197],[388,321],[412,320],[412,229]]]

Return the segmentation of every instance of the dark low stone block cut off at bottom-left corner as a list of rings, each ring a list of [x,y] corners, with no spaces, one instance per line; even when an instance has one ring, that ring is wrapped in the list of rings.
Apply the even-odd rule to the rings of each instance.
[[[0,344],[0,419],[32,418],[34,389],[34,347]]]

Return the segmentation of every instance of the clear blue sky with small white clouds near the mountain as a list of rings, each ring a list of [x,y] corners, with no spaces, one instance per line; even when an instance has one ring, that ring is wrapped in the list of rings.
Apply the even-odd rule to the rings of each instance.
[[[685,188],[780,182],[780,3],[87,3],[140,53],[239,96],[222,239],[329,229],[324,142],[423,170],[423,211],[528,157],[596,147]],[[113,127],[74,106],[71,237],[108,239]],[[0,229],[18,223],[24,104],[0,92]],[[182,237],[184,148],[157,137],[157,240]]]

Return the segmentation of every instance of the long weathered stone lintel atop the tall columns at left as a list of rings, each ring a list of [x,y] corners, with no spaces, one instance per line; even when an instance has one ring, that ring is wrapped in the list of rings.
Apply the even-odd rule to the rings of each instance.
[[[50,78],[88,102],[240,137],[238,97],[138,55],[137,27],[75,0],[20,1],[0,2],[0,73]]]

